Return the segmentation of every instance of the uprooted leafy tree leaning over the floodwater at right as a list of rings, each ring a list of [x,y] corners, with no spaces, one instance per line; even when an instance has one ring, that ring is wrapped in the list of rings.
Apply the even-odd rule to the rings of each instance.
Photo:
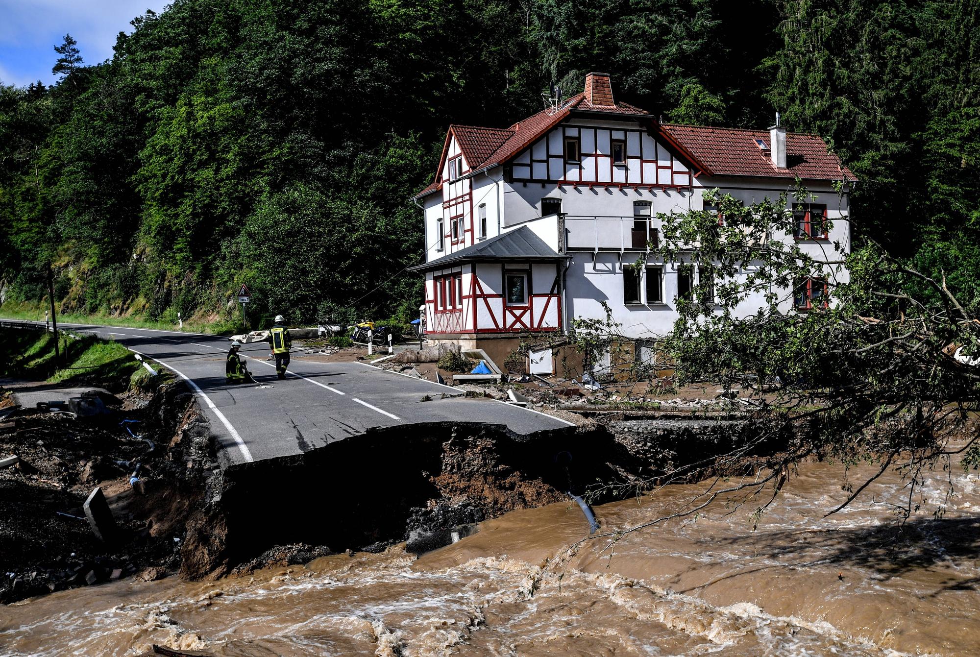
[[[723,213],[723,225],[707,211],[660,217],[659,256],[702,270],[693,296],[678,299],[679,318],[666,341],[678,379],[748,387],[744,398],[771,421],[771,429],[725,457],[733,464],[788,429],[793,437],[759,477],[718,482],[685,513],[742,490],[759,495],[760,514],[793,464],[816,456],[878,466],[828,514],[897,470],[910,489],[897,506],[907,518],[917,509],[914,490],[924,469],[948,467],[954,454],[964,455],[966,467],[980,466],[980,432],[966,424],[980,407],[980,374],[967,364],[980,357],[980,322],[945,280],[921,274],[875,244],[850,255],[837,246],[836,260],[814,260],[792,237],[785,194],[751,206],[716,190],[706,199]],[[794,310],[808,279],[820,281],[822,298],[805,312]],[[764,303],[742,318],[736,308],[750,297]],[[965,445],[957,444],[964,436]]]

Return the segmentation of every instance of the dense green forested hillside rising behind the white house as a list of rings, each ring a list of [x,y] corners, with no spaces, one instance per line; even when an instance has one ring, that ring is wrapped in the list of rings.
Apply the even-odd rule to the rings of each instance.
[[[852,218],[961,298],[980,274],[980,2],[177,0],[112,60],[0,86],[0,294],[63,312],[414,316],[451,123],[589,71],[664,121],[825,137]]]

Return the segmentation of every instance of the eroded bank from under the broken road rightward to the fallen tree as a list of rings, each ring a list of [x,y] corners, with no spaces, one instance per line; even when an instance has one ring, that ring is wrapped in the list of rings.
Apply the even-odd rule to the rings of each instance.
[[[300,563],[401,540],[423,552],[450,542],[454,531],[466,535],[469,525],[567,499],[569,491],[608,501],[668,472],[691,480],[758,468],[781,439],[737,462],[720,458],[758,431],[748,419],[624,421],[531,435],[462,422],[368,430],[303,454],[234,465],[210,480],[207,505],[187,525],[180,574],[217,578],[242,564]],[[685,474],[692,464],[699,469]]]

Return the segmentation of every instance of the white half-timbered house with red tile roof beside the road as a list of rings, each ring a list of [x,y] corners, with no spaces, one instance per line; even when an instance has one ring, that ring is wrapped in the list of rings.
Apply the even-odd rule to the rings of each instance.
[[[714,187],[746,204],[776,199],[798,178],[811,202],[793,205],[800,230],[789,238],[816,258],[835,241],[848,248],[850,225],[835,220],[848,215],[854,175],[820,137],[778,121],[765,130],[662,124],[616,102],[610,76],[592,73],[583,93],[513,126],[450,126],[436,176],[415,196],[426,334],[513,346],[603,318],[603,302],[623,334],[664,334],[700,272],[651,253],[657,215],[704,209],[702,192]],[[822,284],[787,294],[786,310],[822,303]]]

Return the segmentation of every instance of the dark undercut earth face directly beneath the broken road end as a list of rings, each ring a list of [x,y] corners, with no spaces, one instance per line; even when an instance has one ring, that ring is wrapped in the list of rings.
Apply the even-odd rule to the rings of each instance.
[[[231,466],[212,480],[210,503],[190,524],[181,575],[221,576],[276,544],[382,549],[413,530],[563,499],[569,486],[597,474],[563,456],[584,453],[592,437],[434,423],[368,430],[303,454]]]

